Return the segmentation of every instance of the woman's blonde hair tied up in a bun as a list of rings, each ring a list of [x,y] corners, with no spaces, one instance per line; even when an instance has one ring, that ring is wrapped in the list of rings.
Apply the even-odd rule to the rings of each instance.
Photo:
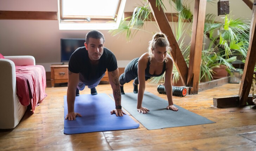
[[[159,32],[159,33],[155,33],[152,37],[152,40],[149,41],[149,46],[148,46],[148,58],[149,60],[151,60],[153,58],[153,53],[152,53],[152,50],[154,50],[157,46],[159,47],[168,47],[168,50],[171,51],[172,48],[170,47],[170,44],[169,44],[169,41],[167,39],[167,36],[162,33],[162,32]],[[167,56],[165,58],[165,62],[167,62],[168,59],[167,59]]]

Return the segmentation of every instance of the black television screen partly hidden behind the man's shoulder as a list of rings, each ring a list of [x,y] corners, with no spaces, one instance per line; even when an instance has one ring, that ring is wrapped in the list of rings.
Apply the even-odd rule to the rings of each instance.
[[[85,39],[60,39],[61,62],[69,62],[71,54],[79,47],[84,46]]]

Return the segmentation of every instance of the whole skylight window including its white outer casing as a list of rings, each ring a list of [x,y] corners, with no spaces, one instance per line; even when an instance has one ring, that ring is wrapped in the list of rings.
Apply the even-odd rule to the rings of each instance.
[[[118,28],[126,0],[58,0],[60,30]]]

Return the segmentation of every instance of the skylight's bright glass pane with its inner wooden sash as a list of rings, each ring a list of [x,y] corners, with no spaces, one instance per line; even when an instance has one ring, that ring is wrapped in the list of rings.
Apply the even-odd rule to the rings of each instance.
[[[60,21],[116,21],[122,0],[60,0]],[[123,13],[123,12],[122,12]]]

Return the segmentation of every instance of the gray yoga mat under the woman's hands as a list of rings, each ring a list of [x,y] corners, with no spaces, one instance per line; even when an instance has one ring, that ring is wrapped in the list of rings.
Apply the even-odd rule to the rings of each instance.
[[[113,94],[109,95],[113,98]],[[147,114],[137,111],[137,94],[135,93],[122,94],[121,103],[122,107],[148,130],[215,123],[178,105],[175,105],[179,109],[177,112],[166,110],[168,101],[149,92],[144,93],[142,102],[142,106],[150,110]]]

